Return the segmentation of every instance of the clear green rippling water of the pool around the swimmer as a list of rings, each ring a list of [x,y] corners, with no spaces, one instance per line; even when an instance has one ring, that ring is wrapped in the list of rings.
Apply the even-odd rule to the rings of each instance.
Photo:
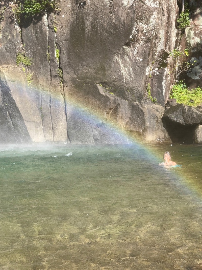
[[[202,148],[147,147],[182,167],[131,145],[1,147],[0,269],[199,267]]]

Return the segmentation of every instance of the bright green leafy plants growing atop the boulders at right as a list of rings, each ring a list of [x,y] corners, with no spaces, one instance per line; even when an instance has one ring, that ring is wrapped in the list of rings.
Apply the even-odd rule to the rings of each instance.
[[[183,103],[189,106],[198,106],[202,104],[202,90],[198,86],[189,90],[183,80],[173,85],[170,98],[175,98],[177,103]],[[190,100],[192,102],[190,102]]]

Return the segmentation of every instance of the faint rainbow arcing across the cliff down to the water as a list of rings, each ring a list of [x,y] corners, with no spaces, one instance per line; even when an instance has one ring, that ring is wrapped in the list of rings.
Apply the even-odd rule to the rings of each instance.
[[[163,152],[167,151],[168,144],[165,144],[165,149],[163,151],[156,151],[153,149],[151,144],[145,144],[143,143],[138,137],[128,134],[125,130],[123,125],[118,124],[116,121],[112,119],[107,119],[106,115],[103,114],[103,111],[93,108],[92,106],[87,106],[86,103],[82,103],[78,100],[74,100],[73,96],[67,96],[65,95],[64,100],[64,92],[57,92],[57,93],[50,93],[48,90],[44,91],[42,89],[38,89],[37,87],[33,87],[31,85],[30,87],[26,87],[22,83],[17,83],[16,80],[11,84],[12,89],[15,87],[18,91],[19,96],[23,96],[24,98],[30,99],[31,97],[36,100],[40,95],[42,95],[45,99],[50,99],[51,96],[51,103],[54,104],[55,109],[59,109],[61,106],[65,106],[66,102],[66,109],[69,112],[76,112],[78,114],[78,117],[82,118],[82,121],[90,122],[96,125],[99,123],[100,125],[103,125],[104,132],[110,134],[113,136],[112,143],[122,143],[122,144],[133,144],[133,146],[137,147],[137,149],[143,149],[144,154],[148,156],[148,159],[151,160],[151,162],[154,162],[152,160],[155,160],[156,165],[160,162],[162,162],[162,156]],[[111,95],[111,94],[107,94]],[[21,101],[20,101],[21,102]],[[51,109],[51,104],[50,104]],[[40,108],[38,108],[40,112]],[[67,115],[68,116],[68,115]],[[110,143],[110,141],[109,141]],[[171,151],[172,154],[172,151]],[[176,161],[176,160],[175,160]],[[173,178],[178,177],[179,181],[182,183],[182,185],[185,187],[186,192],[194,192],[199,197],[201,197],[202,190],[201,188],[198,188],[196,183],[193,179],[190,179],[190,177],[187,177],[185,174],[185,170],[183,167],[178,168],[165,168],[163,166],[159,166],[160,170],[163,170],[165,173],[169,171],[169,173],[172,174]]]

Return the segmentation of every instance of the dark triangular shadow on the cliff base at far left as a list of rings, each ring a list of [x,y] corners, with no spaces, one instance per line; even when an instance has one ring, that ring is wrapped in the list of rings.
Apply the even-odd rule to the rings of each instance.
[[[2,104],[0,106],[2,132],[5,143],[32,143],[29,132],[25,125],[15,100],[11,96],[10,88],[0,79]]]

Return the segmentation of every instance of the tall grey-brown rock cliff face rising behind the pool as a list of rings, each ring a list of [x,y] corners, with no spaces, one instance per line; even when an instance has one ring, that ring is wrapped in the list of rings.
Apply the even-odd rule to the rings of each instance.
[[[58,14],[21,26],[12,3],[0,5],[1,143],[125,143],[127,131],[169,140],[161,117],[179,40],[176,0],[61,0]],[[19,52],[30,68],[16,65]],[[148,100],[148,83],[162,106]]]

